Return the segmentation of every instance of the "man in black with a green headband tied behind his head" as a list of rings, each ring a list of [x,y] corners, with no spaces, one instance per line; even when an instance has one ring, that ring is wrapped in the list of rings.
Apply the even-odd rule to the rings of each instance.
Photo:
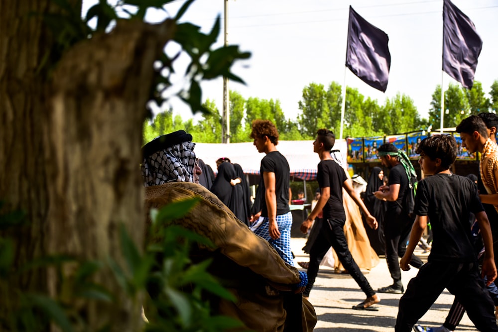
[[[411,190],[402,161],[406,163],[406,168],[413,168],[413,165],[409,160],[406,162],[405,159],[402,159],[403,156],[393,144],[380,145],[377,153],[382,165],[390,169],[389,186],[381,186],[373,195],[379,200],[387,201],[384,217],[385,260],[393,280],[392,285],[379,288],[377,292],[401,294],[404,292],[404,288],[401,283],[398,257],[402,257],[406,251],[406,241],[413,224],[407,212],[402,209],[403,197],[407,190]],[[416,268],[420,268],[422,264],[422,260],[417,256],[413,256],[410,261],[410,265]]]

